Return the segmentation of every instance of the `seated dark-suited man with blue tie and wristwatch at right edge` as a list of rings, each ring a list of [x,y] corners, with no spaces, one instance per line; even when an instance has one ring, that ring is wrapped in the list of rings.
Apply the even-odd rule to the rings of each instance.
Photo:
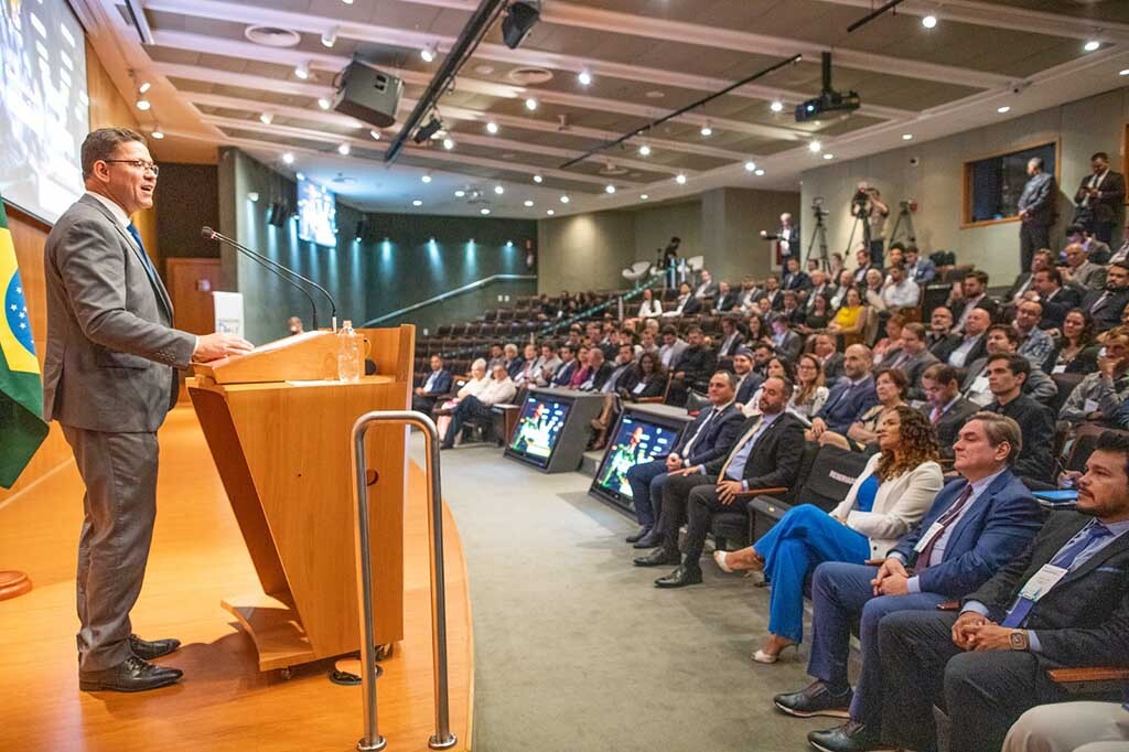
[[[903,612],[878,628],[883,729],[892,746],[997,752],[1029,708],[1067,699],[1058,666],[1129,665],[1129,440],[1103,434],[1078,481],[1077,511],[1052,511],[1030,546],[960,615]]]

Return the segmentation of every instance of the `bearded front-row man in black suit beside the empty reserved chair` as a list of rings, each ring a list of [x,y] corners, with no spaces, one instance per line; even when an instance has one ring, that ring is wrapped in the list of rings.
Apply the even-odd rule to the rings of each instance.
[[[682,587],[702,582],[699,559],[715,511],[743,511],[734,495],[751,488],[788,488],[796,482],[804,452],[804,425],[786,412],[791,383],[777,376],[761,386],[760,414],[746,420],[741,438],[725,456],[671,473],[663,484],[663,543],[634,560],[639,567],[677,565],[677,569],[655,580],[658,587]],[[689,506],[689,508],[688,508]],[[679,556],[679,527],[689,515],[690,526],[683,553]]]

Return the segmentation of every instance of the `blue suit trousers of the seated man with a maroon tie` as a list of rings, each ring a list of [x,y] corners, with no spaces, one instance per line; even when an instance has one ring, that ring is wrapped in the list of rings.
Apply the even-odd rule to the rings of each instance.
[[[851,720],[875,729],[882,727],[882,662],[878,624],[895,611],[929,611],[945,597],[936,593],[879,595],[870,580],[877,567],[828,561],[812,578],[812,657],[807,673],[833,688],[846,689],[850,630],[859,624],[863,673],[850,706]]]

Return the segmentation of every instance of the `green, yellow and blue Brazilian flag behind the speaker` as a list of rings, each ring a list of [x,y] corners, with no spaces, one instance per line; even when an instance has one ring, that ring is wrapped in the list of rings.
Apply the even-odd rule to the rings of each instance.
[[[0,486],[11,488],[47,435],[43,382],[24,303],[16,246],[0,201]]]

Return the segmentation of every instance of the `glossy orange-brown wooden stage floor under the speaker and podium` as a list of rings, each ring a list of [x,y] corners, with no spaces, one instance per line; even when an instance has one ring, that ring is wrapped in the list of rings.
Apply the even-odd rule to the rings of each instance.
[[[342,440],[344,446],[347,439]],[[27,571],[35,589],[0,602],[0,750],[352,750],[362,732],[359,687],[310,664],[283,680],[260,673],[254,646],[220,607],[259,591],[195,414],[174,410],[160,432],[157,528],[133,610],[142,637],[184,646],[161,663],[181,683],[138,694],[78,690],[76,545],[82,517],[73,462],[0,507],[0,569]],[[423,472],[411,465],[404,514],[404,632],[383,663],[379,728],[388,752],[427,750],[434,732],[431,623]],[[471,742],[473,645],[462,544],[445,510],[450,719],[456,749]]]

